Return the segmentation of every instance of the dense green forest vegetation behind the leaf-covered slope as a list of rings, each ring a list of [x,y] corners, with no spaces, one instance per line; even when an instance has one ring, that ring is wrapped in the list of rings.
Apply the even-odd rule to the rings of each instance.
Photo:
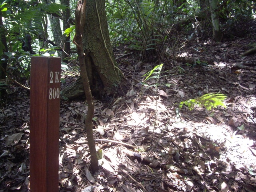
[[[74,10],[76,2],[63,0],[1,1],[1,79],[9,76],[24,84],[29,79],[30,56],[61,56],[64,70],[76,70]],[[210,2],[216,2],[210,6]],[[246,0],[123,0],[106,2],[109,34],[114,51],[124,46],[140,61],[175,58],[188,42],[212,37],[217,41],[242,38],[254,28],[254,1]],[[214,17],[212,17],[214,16]],[[215,29],[216,30],[216,29]],[[1,97],[6,82],[1,80]]]

